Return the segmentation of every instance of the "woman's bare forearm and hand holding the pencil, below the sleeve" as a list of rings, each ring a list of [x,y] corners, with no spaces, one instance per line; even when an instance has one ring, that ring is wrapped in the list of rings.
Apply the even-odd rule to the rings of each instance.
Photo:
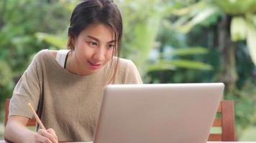
[[[58,137],[53,129],[39,129],[33,132],[27,129],[28,118],[10,116],[5,127],[4,137],[11,142],[18,143],[58,143]]]

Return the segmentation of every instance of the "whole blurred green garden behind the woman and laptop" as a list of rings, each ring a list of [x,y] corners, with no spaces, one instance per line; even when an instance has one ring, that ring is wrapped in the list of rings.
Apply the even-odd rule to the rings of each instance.
[[[255,0],[116,0],[121,56],[144,83],[224,82],[237,139],[256,140]],[[41,49],[65,49],[78,0],[0,0],[0,139],[4,101]]]

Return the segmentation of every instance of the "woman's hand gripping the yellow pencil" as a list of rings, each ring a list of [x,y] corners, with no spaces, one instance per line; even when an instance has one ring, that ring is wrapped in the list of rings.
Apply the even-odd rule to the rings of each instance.
[[[58,143],[58,137],[53,129],[39,129],[35,134],[35,143]]]

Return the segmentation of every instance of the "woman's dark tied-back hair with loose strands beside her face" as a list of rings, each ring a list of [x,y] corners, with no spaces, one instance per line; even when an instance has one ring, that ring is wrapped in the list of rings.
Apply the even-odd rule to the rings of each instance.
[[[119,57],[123,32],[122,16],[116,4],[111,0],[84,0],[76,6],[72,12],[70,27],[68,28],[68,49],[75,49],[72,39],[75,39],[90,24],[104,24],[114,31],[116,44],[113,55]],[[116,74],[118,61],[117,59],[112,80]]]

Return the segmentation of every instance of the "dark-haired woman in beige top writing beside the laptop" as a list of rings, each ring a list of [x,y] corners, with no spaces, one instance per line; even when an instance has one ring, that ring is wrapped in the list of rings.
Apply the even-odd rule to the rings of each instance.
[[[106,84],[141,84],[136,66],[120,59],[122,16],[112,1],[74,9],[68,50],[38,52],[17,83],[5,137],[11,142],[91,141]],[[32,103],[47,130],[32,132]]]

